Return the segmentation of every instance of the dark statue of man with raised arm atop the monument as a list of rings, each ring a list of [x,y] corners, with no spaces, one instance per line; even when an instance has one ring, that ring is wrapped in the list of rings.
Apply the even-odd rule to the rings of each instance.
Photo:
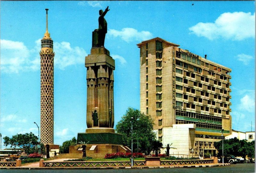
[[[108,7],[106,8],[106,10],[103,12],[103,10],[99,11],[100,17],[99,17],[99,29],[98,29],[98,44],[99,47],[104,47],[104,42],[105,42],[105,36],[107,33],[107,29],[108,29],[108,24],[107,21],[104,19],[104,16],[107,14],[107,12],[109,11]]]

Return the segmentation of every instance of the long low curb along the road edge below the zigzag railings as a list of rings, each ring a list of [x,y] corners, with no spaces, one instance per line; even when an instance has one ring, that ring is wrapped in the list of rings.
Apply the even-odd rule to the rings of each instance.
[[[137,166],[137,167],[0,167],[0,169],[157,169],[157,168],[207,168],[229,166],[230,163],[216,165],[175,165],[175,166]]]

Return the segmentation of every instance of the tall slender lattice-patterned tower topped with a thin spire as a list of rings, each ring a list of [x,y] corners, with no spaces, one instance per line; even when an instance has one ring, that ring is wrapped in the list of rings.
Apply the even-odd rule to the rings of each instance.
[[[53,144],[53,40],[48,32],[48,9],[46,32],[41,40],[41,143]]]

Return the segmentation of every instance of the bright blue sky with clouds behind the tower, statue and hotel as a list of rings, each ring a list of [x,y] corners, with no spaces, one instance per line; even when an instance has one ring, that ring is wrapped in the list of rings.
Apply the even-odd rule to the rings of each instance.
[[[86,127],[86,69],[98,12],[109,6],[105,47],[116,59],[115,125],[140,109],[137,43],[161,37],[232,69],[232,129],[255,130],[254,1],[1,1],[0,132],[11,137],[40,124],[40,40],[54,41],[54,143]],[[192,5],[193,4],[193,5]]]

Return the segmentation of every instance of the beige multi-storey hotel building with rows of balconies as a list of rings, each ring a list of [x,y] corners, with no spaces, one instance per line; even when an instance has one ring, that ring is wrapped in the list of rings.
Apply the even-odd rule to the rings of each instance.
[[[140,111],[154,120],[164,145],[185,155],[216,154],[231,133],[231,69],[159,37],[140,48]]]

